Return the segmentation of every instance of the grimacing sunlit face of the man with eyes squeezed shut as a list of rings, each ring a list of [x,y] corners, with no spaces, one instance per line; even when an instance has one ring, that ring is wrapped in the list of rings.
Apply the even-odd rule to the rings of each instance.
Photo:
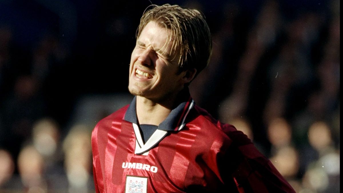
[[[132,51],[129,91],[133,95],[160,100],[184,87],[186,72],[178,72],[178,52],[171,52],[170,30],[154,21],[146,24]],[[172,54],[176,53],[176,54]],[[175,58],[175,59],[174,59]]]

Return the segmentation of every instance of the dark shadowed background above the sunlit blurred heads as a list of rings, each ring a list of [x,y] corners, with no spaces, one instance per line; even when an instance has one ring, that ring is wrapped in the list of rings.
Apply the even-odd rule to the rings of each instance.
[[[291,125],[299,154],[316,121],[329,125],[339,152],[340,1],[0,0],[0,149],[15,165],[41,118],[55,120],[62,141],[73,125],[89,131],[111,113],[97,101],[130,101],[135,32],[152,3],[194,7],[206,16],[214,49],[210,66],[190,86],[199,106],[223,122],[245,118],[268,157],[273,117]],[[105,107],[82,116],[85,99],[93,109]],[[8,183],[3,187],[14,187]]]

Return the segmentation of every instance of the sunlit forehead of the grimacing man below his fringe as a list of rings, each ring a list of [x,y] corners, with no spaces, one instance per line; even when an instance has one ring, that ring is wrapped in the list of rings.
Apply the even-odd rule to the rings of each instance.
[[[145,25],[137,41],[146,47],[152,46],[156,52],[174,53],[172,52],[174,38],[171,35],[171,30],[158,25],[154,21],[150,21]]]

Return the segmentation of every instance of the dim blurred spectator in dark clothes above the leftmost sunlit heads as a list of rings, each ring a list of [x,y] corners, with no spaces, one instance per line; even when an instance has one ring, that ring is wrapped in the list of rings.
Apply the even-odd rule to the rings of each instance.
[[[33,122],[45,113],[36,79],[30,75],[18,77],[2,110],[6,136],[2,144],[16,159],[23,141],[31,137]]]

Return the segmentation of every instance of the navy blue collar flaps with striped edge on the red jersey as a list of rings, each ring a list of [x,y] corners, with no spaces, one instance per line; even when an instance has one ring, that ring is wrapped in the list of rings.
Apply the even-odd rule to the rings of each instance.
[[[179,105],[175,107],[175,109],[171,110],[170,114],[167,118],[158,125],[159,130],[165,131],[176,131],[181,130],[186,124],[186,117],[189,111],[194,107],[194,101],[189,95],[188,92],[188,99],[182,100]],[[136,100],[137,96],[135,96],[126,110],[124,120],[139,125],[136,113]]]

